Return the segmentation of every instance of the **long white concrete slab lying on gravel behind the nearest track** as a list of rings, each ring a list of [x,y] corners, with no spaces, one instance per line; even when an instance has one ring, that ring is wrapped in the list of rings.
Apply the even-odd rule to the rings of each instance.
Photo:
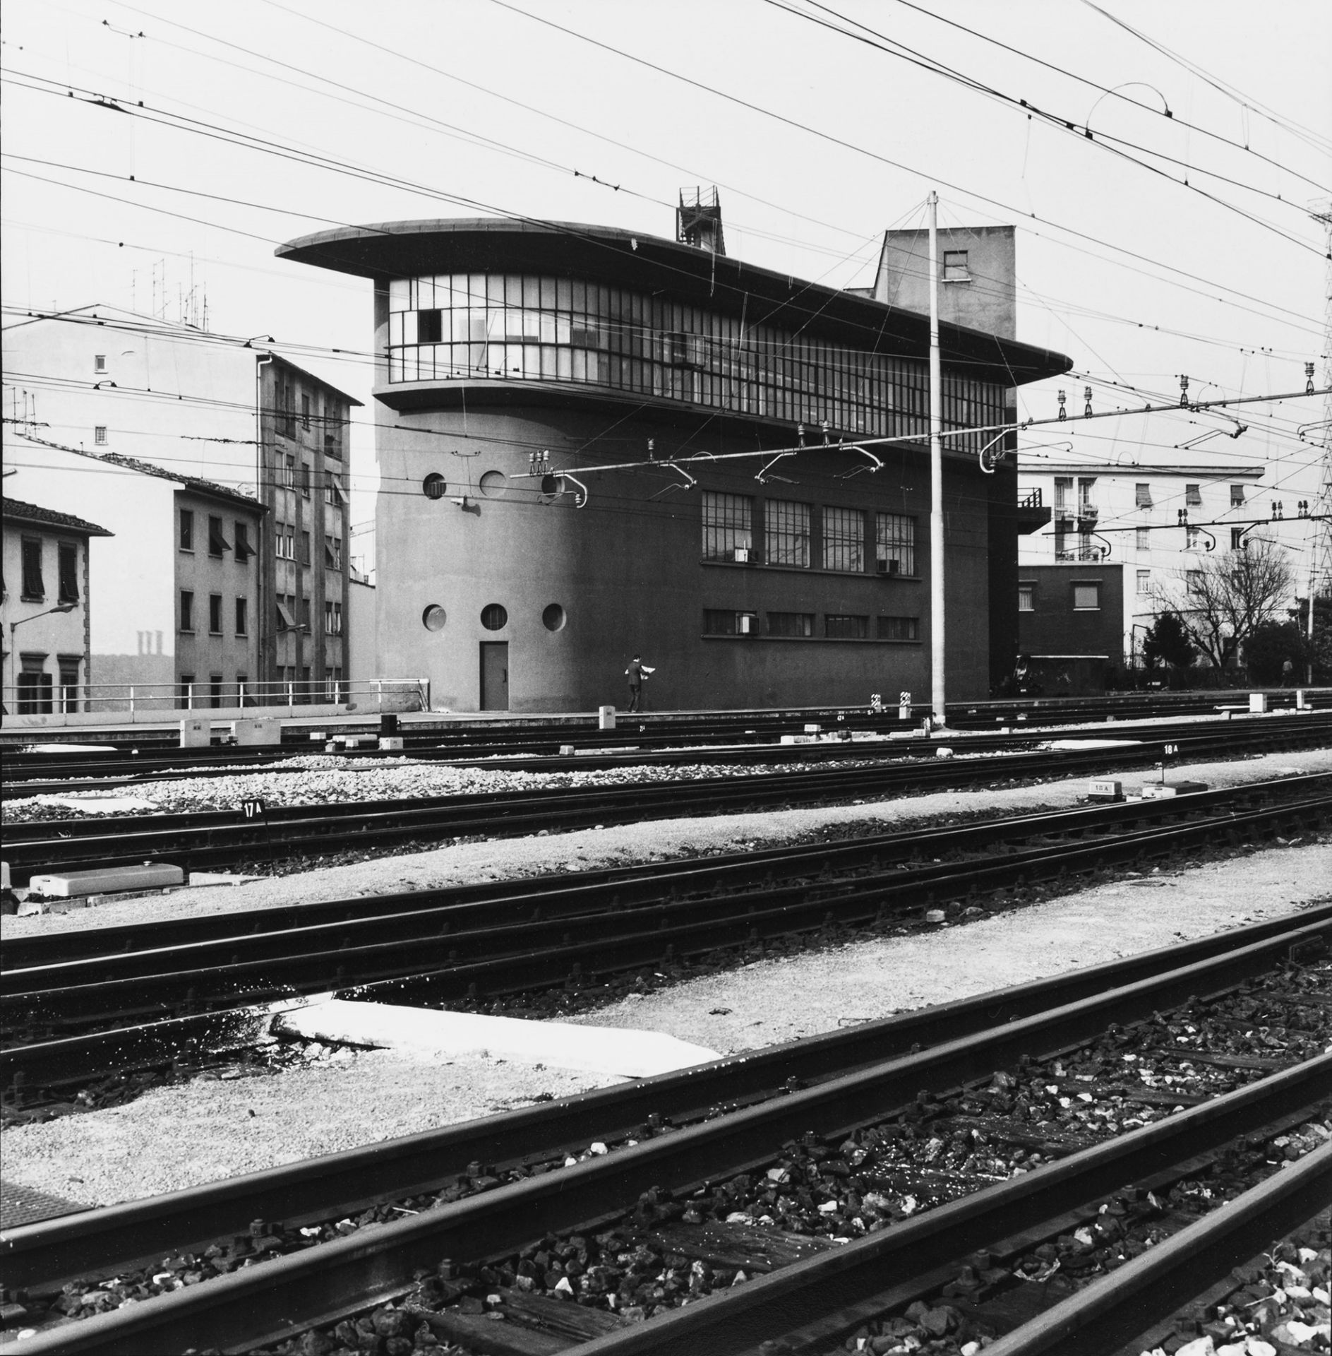
[[[637,1078],[721,1058],[714,1050],[653,1031],[482,1017],[344,998],[282,1013],[274,1020],[272,1031],[304,1040],[439,1055],[489,1055],[516,1063]]]

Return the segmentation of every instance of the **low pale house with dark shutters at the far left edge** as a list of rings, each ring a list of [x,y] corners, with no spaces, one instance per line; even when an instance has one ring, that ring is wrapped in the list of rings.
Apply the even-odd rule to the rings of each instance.
[[[22,499],[0,502],[4,709],[80,711],[92,678],[88,544],[106,527]]]

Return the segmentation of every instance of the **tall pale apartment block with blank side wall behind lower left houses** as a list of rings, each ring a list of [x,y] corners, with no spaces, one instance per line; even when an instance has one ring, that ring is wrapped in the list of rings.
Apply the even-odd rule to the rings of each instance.
[[[8,327],[4,367],[31,411],[12,426],[11,465],[33,462],[42,443],[110,453],[267,510],[252,542],[257,584],[245,637],[257,655],[244,671],[267,686],[294,683],[302,698],[332,698],[352,677],[347,433],[359,401],[278,354],[115,306]],[[43,494],[65,502],[58,488]],[[167,629],[164,673],[182,667],[169,663],[172,635],[186,633]]]

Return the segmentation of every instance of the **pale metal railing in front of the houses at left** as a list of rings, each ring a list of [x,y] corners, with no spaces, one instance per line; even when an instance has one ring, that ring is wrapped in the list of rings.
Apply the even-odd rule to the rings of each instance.
[[[346,711],[409,712],[430,711],[428,678],[363,678],[355,682],[190,682],[190,683],[57,683],[0,687],[7,717],[42,717],[42,724],[60,724],[60,717],[115,716],[171,719],[180,711],[237,711],[289,715],[310,708],[337,706]],[[312,712],[313,713],[313,712]]]

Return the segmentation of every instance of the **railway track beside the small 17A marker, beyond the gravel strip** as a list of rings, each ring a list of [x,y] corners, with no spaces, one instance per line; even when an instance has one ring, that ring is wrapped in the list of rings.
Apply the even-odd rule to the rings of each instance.
[[[799,767],[680,782],[547,786],[538,792],[474,793],[324,805],[270,807],[247,819],[236,811],[99,816],[7,826],[5,853],[16,883],[43,871],[137,865],[146,858],[186,871],[241,868],[262,861],[439,837],[505,837],[654,818],[905,795],[1010,778],[1110,773],[1232,757],[1245,751],[1320,747],[1332,742],[1332,716],[1263,723],[1153,728],[1117,747],[1065,749],[957,758],[870,761],[847,767]],[[854,746],[852,746],[854,747]],[[965,751],[963,746],[958,746]],[[931,750],[934,751],[934,750]]]

